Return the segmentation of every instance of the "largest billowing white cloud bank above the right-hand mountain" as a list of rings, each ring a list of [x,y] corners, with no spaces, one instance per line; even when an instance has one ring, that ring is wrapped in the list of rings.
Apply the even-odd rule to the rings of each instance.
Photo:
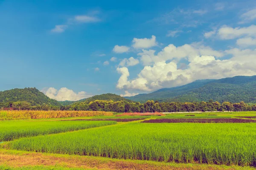
[[[144,50],[139,54],[145,66],[134,79],[129,79],[127,67],[117,68],[121,77],[116,88],[150,92],[159,88],[184,85],[197,79],[256,75],[256,50],[233,48],[220,52],[195,43],[179,47],[171,44],[156,55],[154,53],[154,50]],[[218,58],[223,55],[232,57]],[[178,68],[178,59],[181,58],[187,59],[188,64]]]

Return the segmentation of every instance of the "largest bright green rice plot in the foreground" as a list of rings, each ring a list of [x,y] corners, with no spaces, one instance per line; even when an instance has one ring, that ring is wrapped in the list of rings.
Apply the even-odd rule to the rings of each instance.
[[[256,123],[127,123],[15,140],[11,149],[178,163],[256,166]]]

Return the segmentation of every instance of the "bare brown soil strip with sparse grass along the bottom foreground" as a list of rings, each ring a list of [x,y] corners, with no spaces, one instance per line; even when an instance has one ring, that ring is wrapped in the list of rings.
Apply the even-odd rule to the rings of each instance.
[[[252,167],[176,164],[153,161],[108,159],[93,156],[33,153],[0,149],[0,165],[10,167],[60,166],[67,168],[93,168],[102,170],[250,170]]]

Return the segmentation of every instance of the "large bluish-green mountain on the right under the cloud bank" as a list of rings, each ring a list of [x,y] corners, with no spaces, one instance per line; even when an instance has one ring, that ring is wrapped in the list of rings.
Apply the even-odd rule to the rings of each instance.
[[[187,85],[163,88],[150,94],[126,97],[138,102],[201,102],[210,99],[218,102],[256,102],[256,76],[236,76],[224,79],[196,80]]]

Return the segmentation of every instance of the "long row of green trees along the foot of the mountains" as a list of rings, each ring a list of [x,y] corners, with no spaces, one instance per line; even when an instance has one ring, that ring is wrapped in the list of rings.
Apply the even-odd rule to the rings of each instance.
[[[256,105],[247,105],[244,102],[157,102],[148,100],[145,103],[127,101],[95,100],[90,103],[76,102],[67,106],[37,105],[31,106],[28,102],[13,102],[14,110],[65,110],[65,111],[113,111],[123,112],[194,112],[194,111],[256,111]]]

